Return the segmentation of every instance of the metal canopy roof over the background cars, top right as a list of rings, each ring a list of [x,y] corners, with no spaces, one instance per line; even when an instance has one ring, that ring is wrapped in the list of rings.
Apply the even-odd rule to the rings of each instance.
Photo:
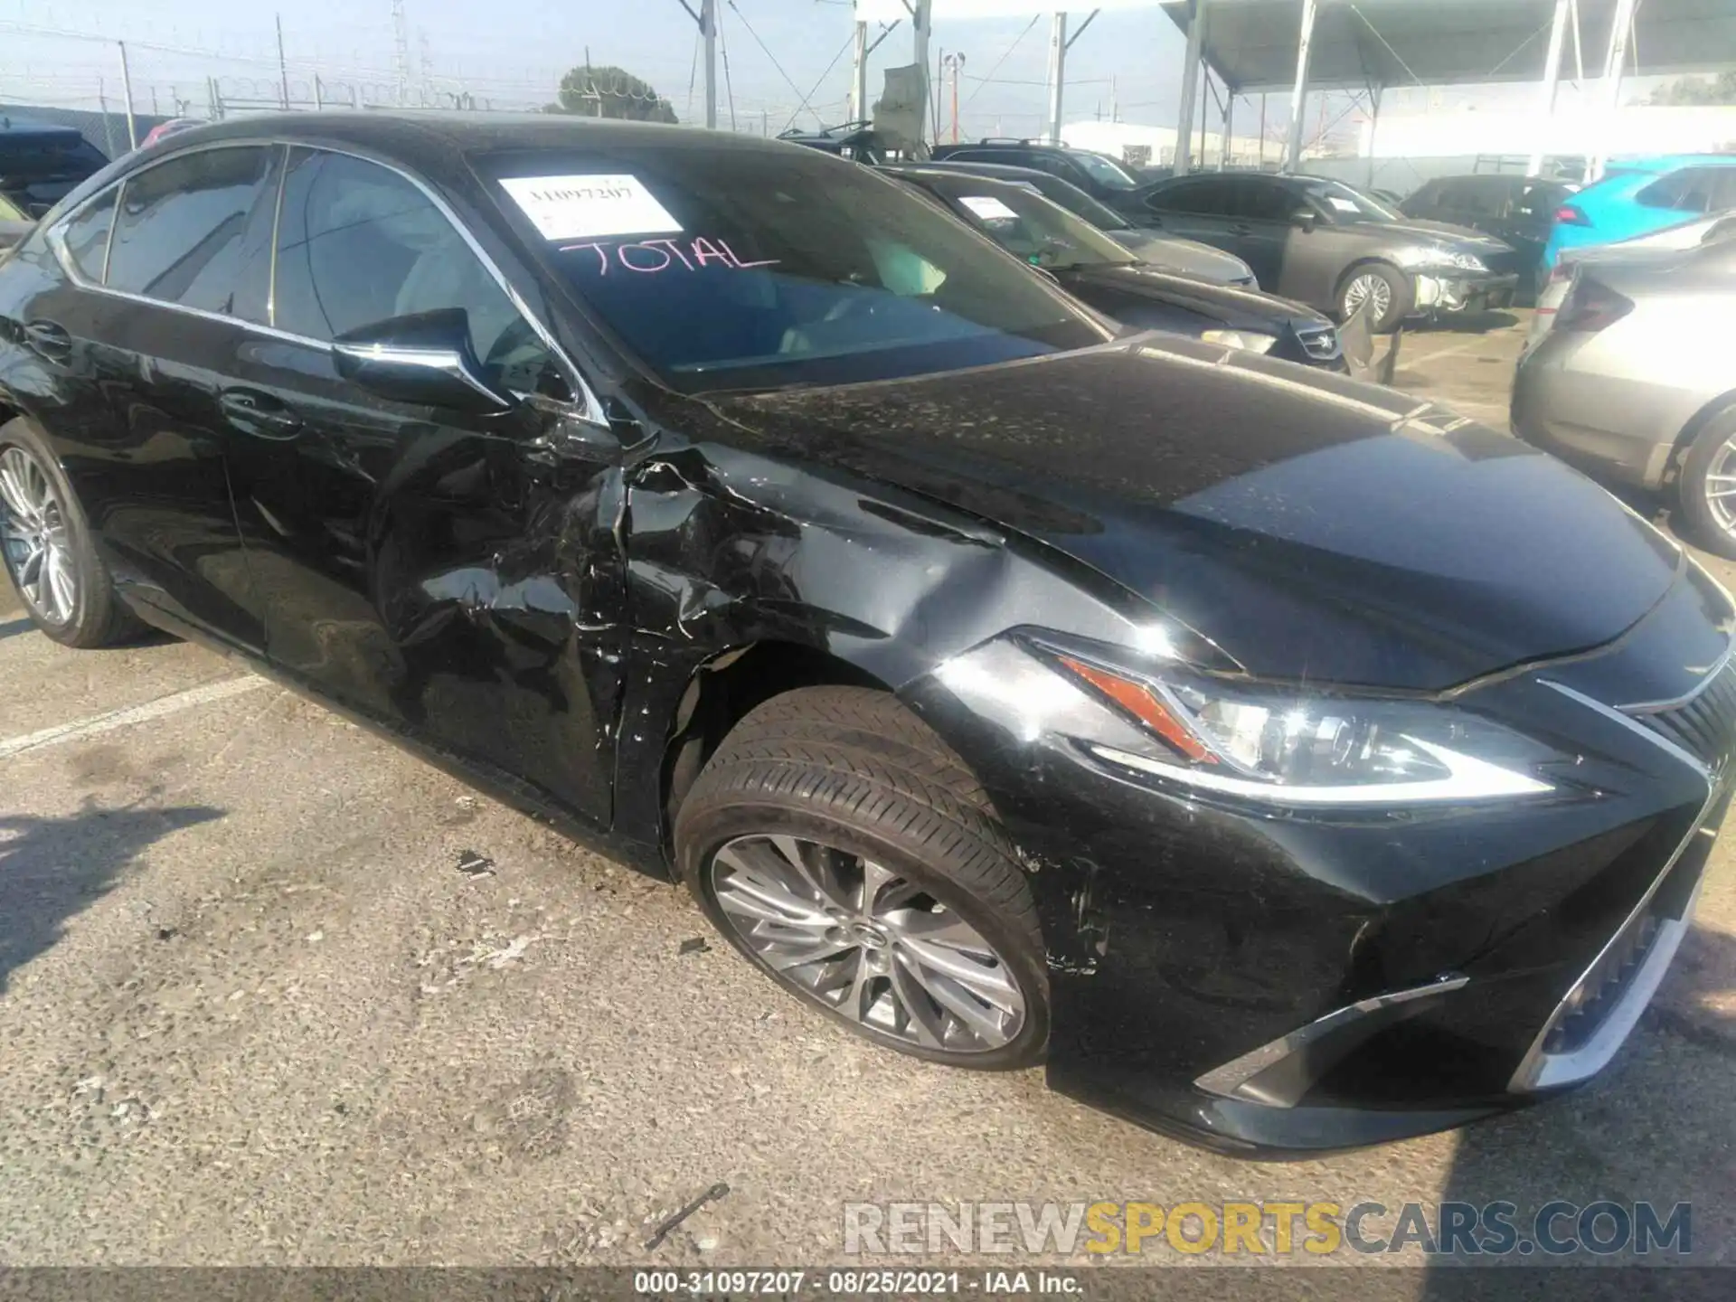
[[[1594,75],[1621,7],[1621,0],[1578,0],[1580,42]],[[1186,35],[1187,0],[1168,0],[1165,9]],[[1203,0],[1200,9],[1200,54],[1234,94],[1295,85],[1302,0]],[[1555,0],[1316,0],[1309,87],[1542,82],[1554,16]],[[1727,66],[1736,61],[1736,0],[1642,0],[1628,56],[1630,76]]]

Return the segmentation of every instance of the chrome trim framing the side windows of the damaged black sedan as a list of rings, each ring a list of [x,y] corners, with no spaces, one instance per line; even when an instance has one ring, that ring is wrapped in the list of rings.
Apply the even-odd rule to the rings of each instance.
[[[299,139],[285,137],[285,135],[260,135],[260,137],[245,135],[245,137],[234,137],[234,139],[226,139],[226,141],[201,141],[200,144],[189,144],[189,146],[184,146],[181,149],[175,149],[175,153],[165,155],[163,158],[155,158],[149,163],[146,163],[144,167],[135,168],[135,170],[128,172],[127,175],[120,177],[113,184],[104,186],[95,194],[90,194],[82,203],[78,203],[75,208],[69,208],[68,212],[64,212],[54,222],[54,226],[49,227],[49,233],[47,233],[49,234],[49,247],[54,250],[54,257],[61,264],[61,271],[66,273],[66,278],[71,279],[73,285],[76,285],[82,290],[89,290],[90,293],[106,293],[106,295],[113,297],[113,299],[122,299],[125,302],[146,304],[149,307],[160,307],[160,309],[172,311],[172,312],[186,312],[187,316],[196,316],[196,318],[203,318],[203,319],[208,319],[208,321],[220,321],[222,325],[229,325],[229,326],[240,326],[241,330],[247,330],[247,332],[255,333],[255,335],[266,335],[269,339],[278,339],[278,340],[283,340],[283,342],[288,342],[288,344],[300,344],[304,347],[312,347],[312,349],[319,349],[323,352],[330,352],[332,351],[332,340],[328,340],[328,339],[312,339],[311,335],[299,335],[299,333],[293,333],[290,330],[278,330],[278,326],[276,326],[278,219],[281,219],[281,215],[283,215],[283,189],[285,189],[285,186],[288,182],[288,153],[285,153],[285,160],[283,160],[285,167],[283,167],[283,172],[278,177],[278,198],[276,198],[276,208],[278,208],[278,212],[276,212],[276,217],[273,219],[271,285],[269,285],[269,288],[266,292],[267,314],[273,318],[273,321],[269,325],[267,323],[260,323],[260,321],[248,321],[243,316],[229,316],[229,314],[224,314],[224,312],[208,312],[203,307],[187,307],[186,304],[167,302],[165,299],[151,299],[151,297],[148,297],[144,293],[132,293],[130,290],[116,290],[116,288],[111,288],[106,283],[95,285],[90,279],[87,279],[83,274],[78,273],[78,267],[73,266],[71,257],[66,255],[62,240],[59,236],[61,229],[69,220],[73,220],[78,214],[82,214],[87,207],[90,207],[92,203],[95,203],[97,200],[101,200],[109,191],[115,191],[115,217],[109,219],[109,240],[108,240],[108,247],[102,252],[102,279],[108,281],[108,259],[109,259],[109,250],[113,250],[113,247],[115,247],[115,222],[116,222],[116,219],[120,215],[122,200],[125,198],[123,191],[125,191],[127,184],[134,177],[139,177],[139,175],[142,175],[142,174],[146,174],[146,172],[149,172],[153,168],[158,168],[163,163],[172,163],[172,161],[175,161],[179,158],[187,158],[189,155],[196,155],[196,153],[207,153],[210,149],[243,149],[243,148],[250,148],[250,149],[266,148],[266,149],[271,149],[271,148],[276,148],[276,146],[283,146],[285,149],[295,149],[299,146],[299,148],[312,151],[312,153],[330,153],[330,155],[340,155],[344,158],[354,158],[358,161],[372,163],[373,167],[385,168],[387,172],[392,172],[392,174],[403,177],[404,181],[408,181],[411,186],[415,186],[415,189],[424,198],[427,198],[429,203],[434,205],[436,212],[439,212],[441,217],[444,217],[451,224],[451,227],[458,233],[458,236],[464,240],[464,243],[470,248],[470,253],[477,260],[481,260],[483,269],[500,286],[502,293],[507,295],[507,302],[512,304],[512,309],[521,318],[524,318],[524,323],[529,325],[531,332],[543,342],[543,345],[547,345],[549,354],[556,359],[556,365],[561,366],[566,372],[568,382],[573,385],[573,389],[580,396],[580,401],[576,403],[576,406],[582,408],[576,413],[578,418],[583,420],[583,422],[587,422],[587,424],[592,424],[592,425],[601,425],[604,429],[609,427],[609,418],[608,418],[608,415],[602,410],[602,403],[597,399],[595,391],[585,380],[585,377],[580,372],[580,368],[566,354],[566,349],[561,347],[561,344],[556,340],[556,337],[549,330],[549,326],[543,325],[543,321],[529,309],[529,306],[524,302],[524,299],[519,295],[519,292],[516,288],[512,288],[512,283],[507,281],[505,273],[500,271],[500,267],[495,264],[495,260],[483,248],[481,241],[477,241],[477,238],[469,231],[469,227],[465,227],[465,224],[458,219],[458,214],[453,212],[451,205],[446,203],[446,200],[441,198],[441,194],[436,193],[434,187],[431,187],[427,182],[424,182],[413,172],[406,172],[404,168],[398,167],[396,163],[387,163],[387,161],[384,161],[380,158],[372,158],[372,156],[368,156],[365,153],[359,153],[356,149],[344,149],[344,148],[337,148],[337,146],[330,146],[330,144],[314,144],[314,142],[309,142],[309,141],[299,141]]]

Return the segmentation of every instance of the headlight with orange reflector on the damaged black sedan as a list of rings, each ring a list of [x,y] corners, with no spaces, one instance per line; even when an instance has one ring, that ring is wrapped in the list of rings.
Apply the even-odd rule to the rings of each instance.
[[[1429,701],[1269,687],[1154,663],[1135,668],[1043,635],[991,642],[939,677],[1026,740],[1180,786],[1279,806],[1502,800],[1554,790],[1554,748]],[[1137,660],[1128,653],[1127,661]]]

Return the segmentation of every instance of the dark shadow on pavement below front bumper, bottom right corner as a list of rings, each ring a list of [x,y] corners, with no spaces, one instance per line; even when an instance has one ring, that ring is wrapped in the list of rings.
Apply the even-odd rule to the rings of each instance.
[[[1531,1238],[1540,1208],[1552,1201],[1576,1210],[1608,1200],[1632,1213],[1635,1203],[1651,1203],[1667,1224],[1677,1203],[1689,1205],[1687,1252],[1665,1243],[1644,1257],[1632,1248],[1597,1253],[1575,1250],[1545,1255],[1540,1248],[1517,1248],[1500,1257],[1453,1255],[1425,1272],[1422,1299],[1467,1297],[1467,1266],[1706,1266],[1660,1276],[1634,1271],[1597,1271],[1611,1285],[1611,1299],[1713,1297],[1719,1286],[1736,1286],[1736,1165],[1731,1161],[1733,1102],[1736,1080],[1736,936],[1694,927],[1677,953],[1639,1029],[1616,1061],[1587,1087],[1550,1099],[1538,1108],[1465,1128],[1441,1189],[1443,1201],[1484,1208],[1505,1201],[1517,1205],[1512,1222],[1521,1241]],[[1576,1217],[1557,1217],[1557,1240],[1576,1234]],[[1594,1231],[1613,1234],[1614,1222]],[[1536,1269],[1474,1271],[1476,1295],[1550,1297],[1561,1279]],[[1594,1276],[1571,1279],[1573,1297]],[[1545,1286],[1549,1285],[1549,1286]],[[1706,1292],[1700,1288],[1705,1285]],[[1569,1286],[1561,1283],[1559,1286]],[[1566,1295],[1566,1293],[1564,1293]],[[1724,1292],[1722,1297],[1731,1293]]]

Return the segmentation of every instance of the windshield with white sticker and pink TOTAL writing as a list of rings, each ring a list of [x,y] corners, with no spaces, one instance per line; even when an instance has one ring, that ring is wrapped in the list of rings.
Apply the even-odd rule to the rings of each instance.
[[[819,151],[677,137],[477,161],[578,297],[682,392],[925,375],[1108,339],[934,205]]]

